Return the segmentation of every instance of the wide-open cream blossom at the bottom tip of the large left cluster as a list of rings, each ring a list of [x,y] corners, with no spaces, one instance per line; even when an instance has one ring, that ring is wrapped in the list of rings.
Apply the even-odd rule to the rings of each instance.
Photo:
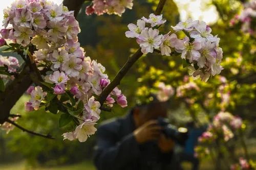
[[[74,135],[80,142],[86,141],[87,138],[90,137],[90,135],[95,134],[95,132],[97,131],[97,129],[94,127],[95,124],[96,123],[91,119],[84,120],[81,125],[76,127]]]

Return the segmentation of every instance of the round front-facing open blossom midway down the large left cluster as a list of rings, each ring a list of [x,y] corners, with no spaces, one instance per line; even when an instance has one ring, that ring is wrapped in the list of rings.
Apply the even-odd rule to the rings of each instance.
[[[81,59],[76,56],[70,56],[69,60],[65,61],[61,67],[62,71],[65,71],[70,77],[79,76],[79,71],[82,69]]]

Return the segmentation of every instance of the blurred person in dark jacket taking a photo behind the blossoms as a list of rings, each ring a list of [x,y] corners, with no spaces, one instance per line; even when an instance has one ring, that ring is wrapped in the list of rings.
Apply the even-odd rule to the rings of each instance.
[[[97,169],[172,169],[174,141],[162,134],[156,120],[166,116],[166,108],[160,102],[137,106],[125,117],[103,123],[97,131]]]

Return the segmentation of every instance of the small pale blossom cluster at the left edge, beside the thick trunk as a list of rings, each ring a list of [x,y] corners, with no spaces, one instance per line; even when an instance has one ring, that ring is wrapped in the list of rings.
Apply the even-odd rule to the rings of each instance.
[[[6,67],[9,73],[16,72],[19,67],[19,62],[15,57],[3,57],[0,55],[0,67]],[[8,78],[6,75],[1,75],[0,78]]]

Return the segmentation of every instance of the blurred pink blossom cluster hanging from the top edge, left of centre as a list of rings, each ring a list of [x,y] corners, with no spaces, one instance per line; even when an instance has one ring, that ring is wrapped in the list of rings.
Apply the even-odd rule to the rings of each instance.
[[[97,15],[116,14],[121,16],[125,12],[125,8],[133,8],[133,0],[93,0],[90,6],[86,8],[86,14],[93,13]]]

